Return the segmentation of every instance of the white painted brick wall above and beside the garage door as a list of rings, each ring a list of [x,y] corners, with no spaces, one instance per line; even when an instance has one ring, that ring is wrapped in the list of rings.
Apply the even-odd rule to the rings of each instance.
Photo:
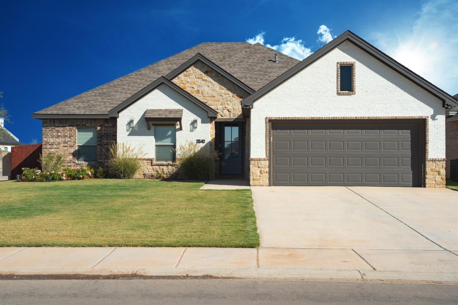
[[[337,95],[341,61],[356,62],[355,95]],[[445,158],[442,102],[345,42],[254,103],[250,157],[266,157],[266,117],[385,116],[430,116],[429,158]]]

